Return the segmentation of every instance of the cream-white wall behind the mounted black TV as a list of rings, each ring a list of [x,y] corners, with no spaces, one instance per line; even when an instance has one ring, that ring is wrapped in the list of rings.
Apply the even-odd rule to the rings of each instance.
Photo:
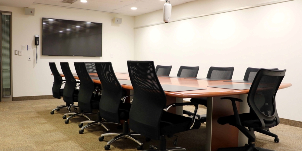
[[[56,62],[62,73],[59,62],[69,62],[72,72],[76,72],[73,62],[111,61],[115,71],[127,71],[127,60],[133,59],[134,18],[117,14],[97,11],[86,11],[68,8],[31,5],[35,8],[35,16],[24,15],[24,8],[0,6],[2,11],[12,12],[12,54],[14,50],[21,50],[21,45],[34,45],[34,35],[42,37],[42,18],[58,18],[76,21],[90,21],[103,23],[102,57],[79,56],[42,56],[38,46],[38,64],[34,51],[22,51],[22,56],[12,56],[13,97],[52,95],[53,76],[48,62]],[[121,25],[112,23],[114,17],[123,18]],[[41,39],[41,44],[43,39]],[[113,58],[110,54],[113,53]],[[27,61],[27,56],[32,61]]]

